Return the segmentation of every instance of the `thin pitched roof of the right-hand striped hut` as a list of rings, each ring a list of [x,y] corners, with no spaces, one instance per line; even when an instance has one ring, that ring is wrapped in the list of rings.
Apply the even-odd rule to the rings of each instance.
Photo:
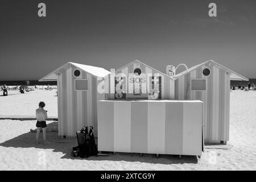
[[[178,73],[177,75],[172,76],[172,77],[173,77],[174,79],[177,79],[178,77],[183,76],[183,75],[186,75],[187,73],[190,73],[190,72],[193,71],[194,69],[197,69],[197,68],[199,68],[199,67],[201,67],[201,66],[203,66],[203,65],[205,65],[205,64],[208,64],[208,63],[216,64],[216,65],[218,65],[219,67],[225,69],[227,72],[229,72],[229,73],[230,73],[230,80],[249,81],[248,78],[246,78],[246,77],[244,77],[244,76],[242,76],[242,75],[239,75],[238,73],[232,71],[231,69],[228,69],[228,68],[224,67],[224,66],[221,65],[221,64],[216,63],[216,62],[213,61],[213,60],[208,60],[208,61],[205,61],[204,63],[197,64],[197,65],[195,65],[195,66],[189,68],[188,70],[185,70],[185,71],[183,71],[183,72],[181,72],[181,73]]]

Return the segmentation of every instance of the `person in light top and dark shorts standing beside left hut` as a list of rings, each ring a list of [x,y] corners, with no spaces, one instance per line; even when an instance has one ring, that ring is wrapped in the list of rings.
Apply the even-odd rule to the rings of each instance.
[[[47,119],[47,110],[44,110],[44,102],[39,102],[39,108],[36,109],[36,144],[39,144],[39,134],[40,129],[43,130],[43,138],[44,138],[44,144],[48,144],[49,142],[46,142],[46,119]]]

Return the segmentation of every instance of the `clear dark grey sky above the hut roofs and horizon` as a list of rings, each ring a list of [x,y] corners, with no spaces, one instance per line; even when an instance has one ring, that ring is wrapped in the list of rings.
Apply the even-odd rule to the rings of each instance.
[[[0,80],[38,80],[68,61],[110,70],[135,59],[162,72],[212,59],[256,78],[256,1],[0,2]]]

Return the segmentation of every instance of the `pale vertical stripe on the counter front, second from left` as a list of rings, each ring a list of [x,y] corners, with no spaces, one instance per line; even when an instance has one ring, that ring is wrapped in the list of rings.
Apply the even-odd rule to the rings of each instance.
[[[130,102],[114,102],[114,151],[131,151]]]

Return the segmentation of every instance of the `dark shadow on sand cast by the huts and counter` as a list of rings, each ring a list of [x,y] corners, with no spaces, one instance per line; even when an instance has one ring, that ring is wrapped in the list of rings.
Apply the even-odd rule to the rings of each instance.
[[[56,125],[56,122],[49,123],[50,125]],[[40,134],[40,141],[42,142],[42,133]],[[72,147],[77,146],[77,138],[61,138],[56,132],[47,133],[47,140],[51,143],[49,144],[36,144],[35,142],[35,133],[24,133],[15,137],[13,139],[7,140],[6,142],[0,143],[0,146],[3,147],[21,147],[21,148],[42,148],[42,149],[52,149],[53,152],[62,152],[64,156],[61,159],[81,159],[81,160],[111,160],[111,161],[126,161],[126,162],[142,162],[142,163],[154,163],[154,164],[183,164],[183,163],[192,163],[196,164],[196,156],[186,156],[183,155],[182,158],[179,158],[179,155],[159,155],[159,158],[156,158],[154,154],[131,154],[117,152],[113,155],[112,152],[105,152],[109,154],[108,156],[90,156],[88,159],[73,157],[71,155]],[[97,143],[97,138],[96,138]]]

